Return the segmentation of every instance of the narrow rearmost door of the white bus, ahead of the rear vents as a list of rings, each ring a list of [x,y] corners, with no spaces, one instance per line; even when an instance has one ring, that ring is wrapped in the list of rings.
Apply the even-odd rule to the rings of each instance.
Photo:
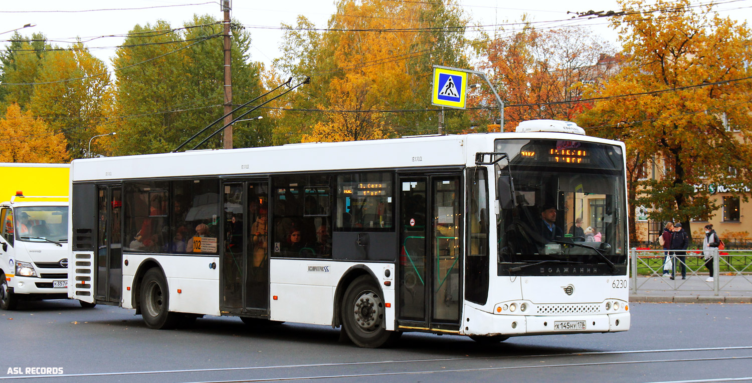
[[[120,303],[123,290],[123,245],[120,240],[120,219],[123,198],[120,186],[97,188],[96,290],[99,302]]]

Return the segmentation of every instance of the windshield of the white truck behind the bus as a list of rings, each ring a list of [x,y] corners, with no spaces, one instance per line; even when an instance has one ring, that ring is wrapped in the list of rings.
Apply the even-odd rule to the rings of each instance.
[[[17,207],[16,239],[24,242],[67,242],[68,207]]]

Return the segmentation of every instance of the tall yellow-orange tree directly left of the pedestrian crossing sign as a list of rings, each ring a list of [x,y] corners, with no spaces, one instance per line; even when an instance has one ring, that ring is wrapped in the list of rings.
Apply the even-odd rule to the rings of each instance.
[[[312,75],[311,86],[287,106],[323,113],[288,112],[277,125],[277,142],[435,131],[437,113],[401,111],[430,106],[431,65],[469,68],[465,21],[453,3],[387,0],[340,0],[323,33],[299,18],[295,28],[288,26],[284,56],[275,65],[283,74]]]

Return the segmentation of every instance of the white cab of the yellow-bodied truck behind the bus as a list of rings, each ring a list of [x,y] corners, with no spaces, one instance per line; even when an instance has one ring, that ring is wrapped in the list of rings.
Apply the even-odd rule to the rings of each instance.
[[[68,198],[56,199],[65,201],[26,201],[19,192],[0,204],[0,309],[67,298]]]

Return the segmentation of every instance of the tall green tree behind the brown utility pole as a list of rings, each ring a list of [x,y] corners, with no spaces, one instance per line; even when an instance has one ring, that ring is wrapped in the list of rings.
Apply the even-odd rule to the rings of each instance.
[[[222,26],[213,17],[195,16],[184,27],[174,30],[164,21],[135,26],[117,50],[115,153],[171,151],[223,116]],[[261,67],[250,62],[247,32],[233,29],[231,49],[233,100],[241,104],[263,92]],[[253,116],[265,116],[257,112]],[[235,146],[268,145],[270,125],[268,119],[239,122]],[[218,135],[203,147],[221,147],[220,141]]]

